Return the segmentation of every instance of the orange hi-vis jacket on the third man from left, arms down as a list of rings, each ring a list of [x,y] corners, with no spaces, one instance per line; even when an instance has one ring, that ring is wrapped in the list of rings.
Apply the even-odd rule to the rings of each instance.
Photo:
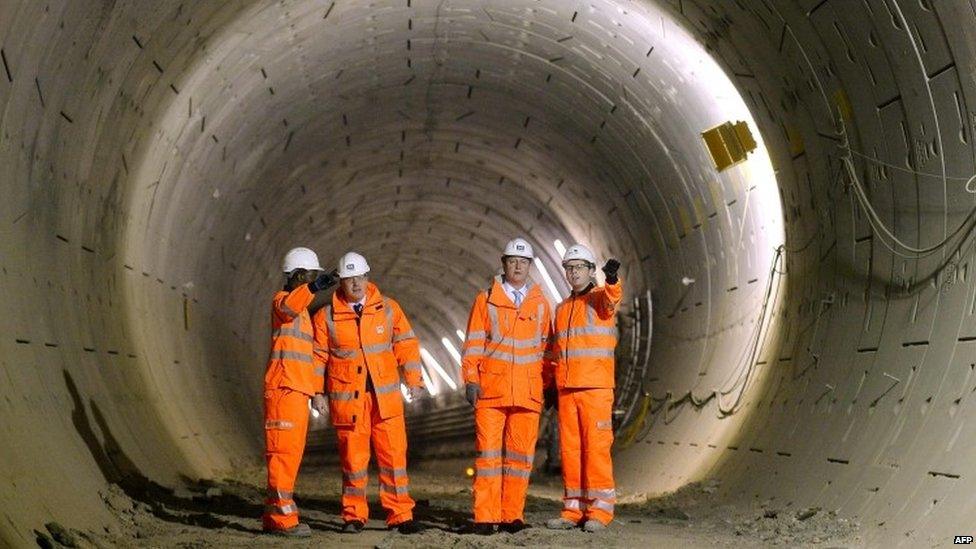
[[[526,288],[516,309],[496,279],[471,307],[461,370],[465,383],[481,386],[479,408],[542,410],[542,353],[552,334],[552,313],[538,286]]]

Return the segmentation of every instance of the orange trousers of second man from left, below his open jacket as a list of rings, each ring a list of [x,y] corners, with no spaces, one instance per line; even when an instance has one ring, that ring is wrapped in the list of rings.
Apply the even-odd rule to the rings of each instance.
[[[355,425],[337,427],[339,458],[342,460],[342,520],[366,522],[366,483],[369,480],[369,443],[373,441],[380,468],[380,503],[386,509],[386,524],[393,526],[413,519],[413,498],[407,477],[407,426],[403,416],[380,417],[376,393],[368,390],[363,412]],[[359,415],[359,414],[357,414]]]

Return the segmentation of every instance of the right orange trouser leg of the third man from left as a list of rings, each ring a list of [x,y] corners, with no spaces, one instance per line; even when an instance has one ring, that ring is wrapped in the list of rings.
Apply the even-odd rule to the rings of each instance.
[[[539,435],[539,412],[507,408],[502,458],[502,522],[525,520],[525,494]]]

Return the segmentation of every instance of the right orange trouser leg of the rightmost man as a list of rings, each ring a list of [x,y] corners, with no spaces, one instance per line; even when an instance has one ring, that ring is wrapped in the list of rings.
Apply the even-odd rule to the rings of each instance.
[[[583,450],[583,497],[589,505],[584,514],[603,524],[613,520],[617,501],[613,481],[613,389],[584,389],[578,392]]]

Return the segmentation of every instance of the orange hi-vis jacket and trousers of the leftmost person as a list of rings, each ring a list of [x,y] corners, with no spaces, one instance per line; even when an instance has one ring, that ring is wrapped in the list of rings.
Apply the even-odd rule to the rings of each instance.
[[[266,530],[298,524],[292,499],[298,466],[305,451],[308,399],[322,392],[322,368],[312,356],[312,320],[308,306],[314,294],[303,284],[275,294],[271,306],[271,355],[264,375],[265,459],[268,493],[262,522]]]

